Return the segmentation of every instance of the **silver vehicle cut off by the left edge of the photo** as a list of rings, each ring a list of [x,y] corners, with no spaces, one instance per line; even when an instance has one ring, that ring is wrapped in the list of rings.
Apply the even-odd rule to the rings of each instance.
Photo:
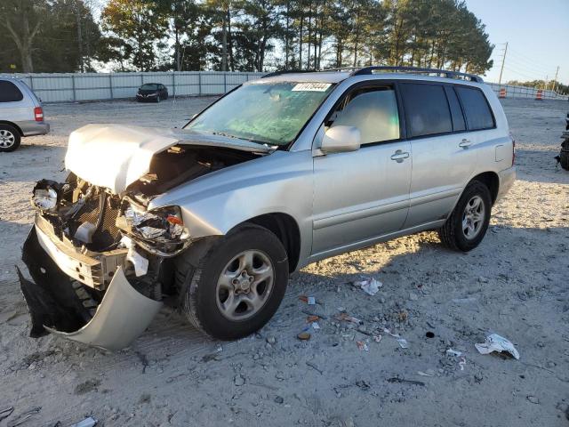
[[[36,94],[21,80],[0,76],[0,152],[20,147],[24,136],[48,132],[50,125]]]

